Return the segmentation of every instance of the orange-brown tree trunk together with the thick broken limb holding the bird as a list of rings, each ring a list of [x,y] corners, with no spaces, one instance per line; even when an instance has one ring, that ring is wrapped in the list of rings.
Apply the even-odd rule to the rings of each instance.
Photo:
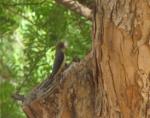
[[[26,97],[29,118],[150,118],[150,1],[96,0],[92,45]]]

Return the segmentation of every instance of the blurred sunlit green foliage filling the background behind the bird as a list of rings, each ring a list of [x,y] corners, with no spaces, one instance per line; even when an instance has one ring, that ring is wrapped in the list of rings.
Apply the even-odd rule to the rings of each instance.
[[[90,21],[52,0],[0,1],[2,118],[25,117],[11,95],[19,88],[26,94],[46,79],[52,69],[58,41],[68,43],[68,63],[74,57],[82,59],[89,52],[90,27]]]

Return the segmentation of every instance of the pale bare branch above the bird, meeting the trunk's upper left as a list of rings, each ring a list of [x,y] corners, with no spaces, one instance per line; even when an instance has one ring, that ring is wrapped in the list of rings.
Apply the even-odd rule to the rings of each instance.
[[[85,18],[92,20],[92,10],[88,7],[80,4],[78,1],[74,0],[55,0],[57,3],[60,3],[72,11],[84,16]]]

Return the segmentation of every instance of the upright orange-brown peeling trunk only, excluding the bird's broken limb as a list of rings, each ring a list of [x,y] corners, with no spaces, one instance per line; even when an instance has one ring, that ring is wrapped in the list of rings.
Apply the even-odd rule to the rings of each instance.
[[[148,0],[96,0],[96,4],[93,49],[99,84],[102,83],[104,89],[103,100],[100,101],[103,102],[100,104],[102,111],[97,111],[98,117],[148,118]]]

